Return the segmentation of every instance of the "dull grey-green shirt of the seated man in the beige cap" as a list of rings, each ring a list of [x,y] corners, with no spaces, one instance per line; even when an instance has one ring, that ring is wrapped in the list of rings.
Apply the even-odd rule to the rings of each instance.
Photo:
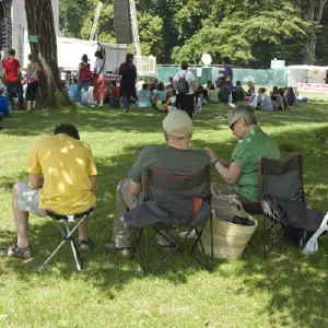
[[[140,152],[128,176],[132,181],[140,184],[148,166],[160,168],[168,174],[189,175],[209,163],[210,156],[204,150],[151,145]]]

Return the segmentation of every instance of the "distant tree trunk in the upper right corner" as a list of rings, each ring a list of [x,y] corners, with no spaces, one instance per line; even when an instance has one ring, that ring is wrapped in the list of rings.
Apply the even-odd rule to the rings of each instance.
[[[316,61],[317,27],[320,25],[324,8],[327,0],[306,0],[305,20],[311,24],[307,28],[307,38],[304,45],[302,63],[313,65]]]

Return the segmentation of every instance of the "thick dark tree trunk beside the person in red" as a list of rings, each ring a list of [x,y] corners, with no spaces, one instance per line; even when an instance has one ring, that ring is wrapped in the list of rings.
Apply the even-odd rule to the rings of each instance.
[[[25,0],[28,35],[37,35],[38,43],[30,43],[35,61],[40,67],[39,90],[43,105],[67,105],[62,92],[57,60],[57,38],[51,0]]]

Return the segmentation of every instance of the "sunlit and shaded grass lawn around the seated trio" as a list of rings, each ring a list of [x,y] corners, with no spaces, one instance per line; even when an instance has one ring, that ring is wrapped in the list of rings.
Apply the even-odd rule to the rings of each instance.
[[[210,147],[230,159],[235,144],[226,121],[215,120],[215,105],[195,117],[192,148]],[[302,104],[290,112],[260,113],[260,126],[286,157],[304,153],[308,202],[328,210],[328,149],[316,134],[328,137],[328,105]],[[238,261],[218,261],[213,272],[175,256],[157,277],[143,278],[136,261],[106,254],[112,235],[115,190],[149,144],[163,144],[163,115],[133,109],[15,112],[0,132],[0,243],[15,238],[11,209],[14,181],[27,178],[25,162],[34,141],[60,121],[71,121],[95,155],[97,207],[90,234],[95,249],[84,255],[77,273],[68,246],[51,266],[39,266],[57,246],[59,234],[48,218],[31,216],[34,259],[23,263],[0,259],[0,327],[328,327],[328,237],[319,251],[303,256],[281,245],[269,260],[246,251]],[[219,181],[213,172],[213,180]],[[160,258],[160,250],[152,257]]]

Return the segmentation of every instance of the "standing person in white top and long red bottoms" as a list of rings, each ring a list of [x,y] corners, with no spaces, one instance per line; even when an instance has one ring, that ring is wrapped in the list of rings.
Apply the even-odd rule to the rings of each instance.
[[[94,79],[93,79],[93,107],[103,107],[104,99],[107,92],[107,79],[106,79],[106,68],[103,52],[101,50],[94,54],[96,61],[94,63]]]

